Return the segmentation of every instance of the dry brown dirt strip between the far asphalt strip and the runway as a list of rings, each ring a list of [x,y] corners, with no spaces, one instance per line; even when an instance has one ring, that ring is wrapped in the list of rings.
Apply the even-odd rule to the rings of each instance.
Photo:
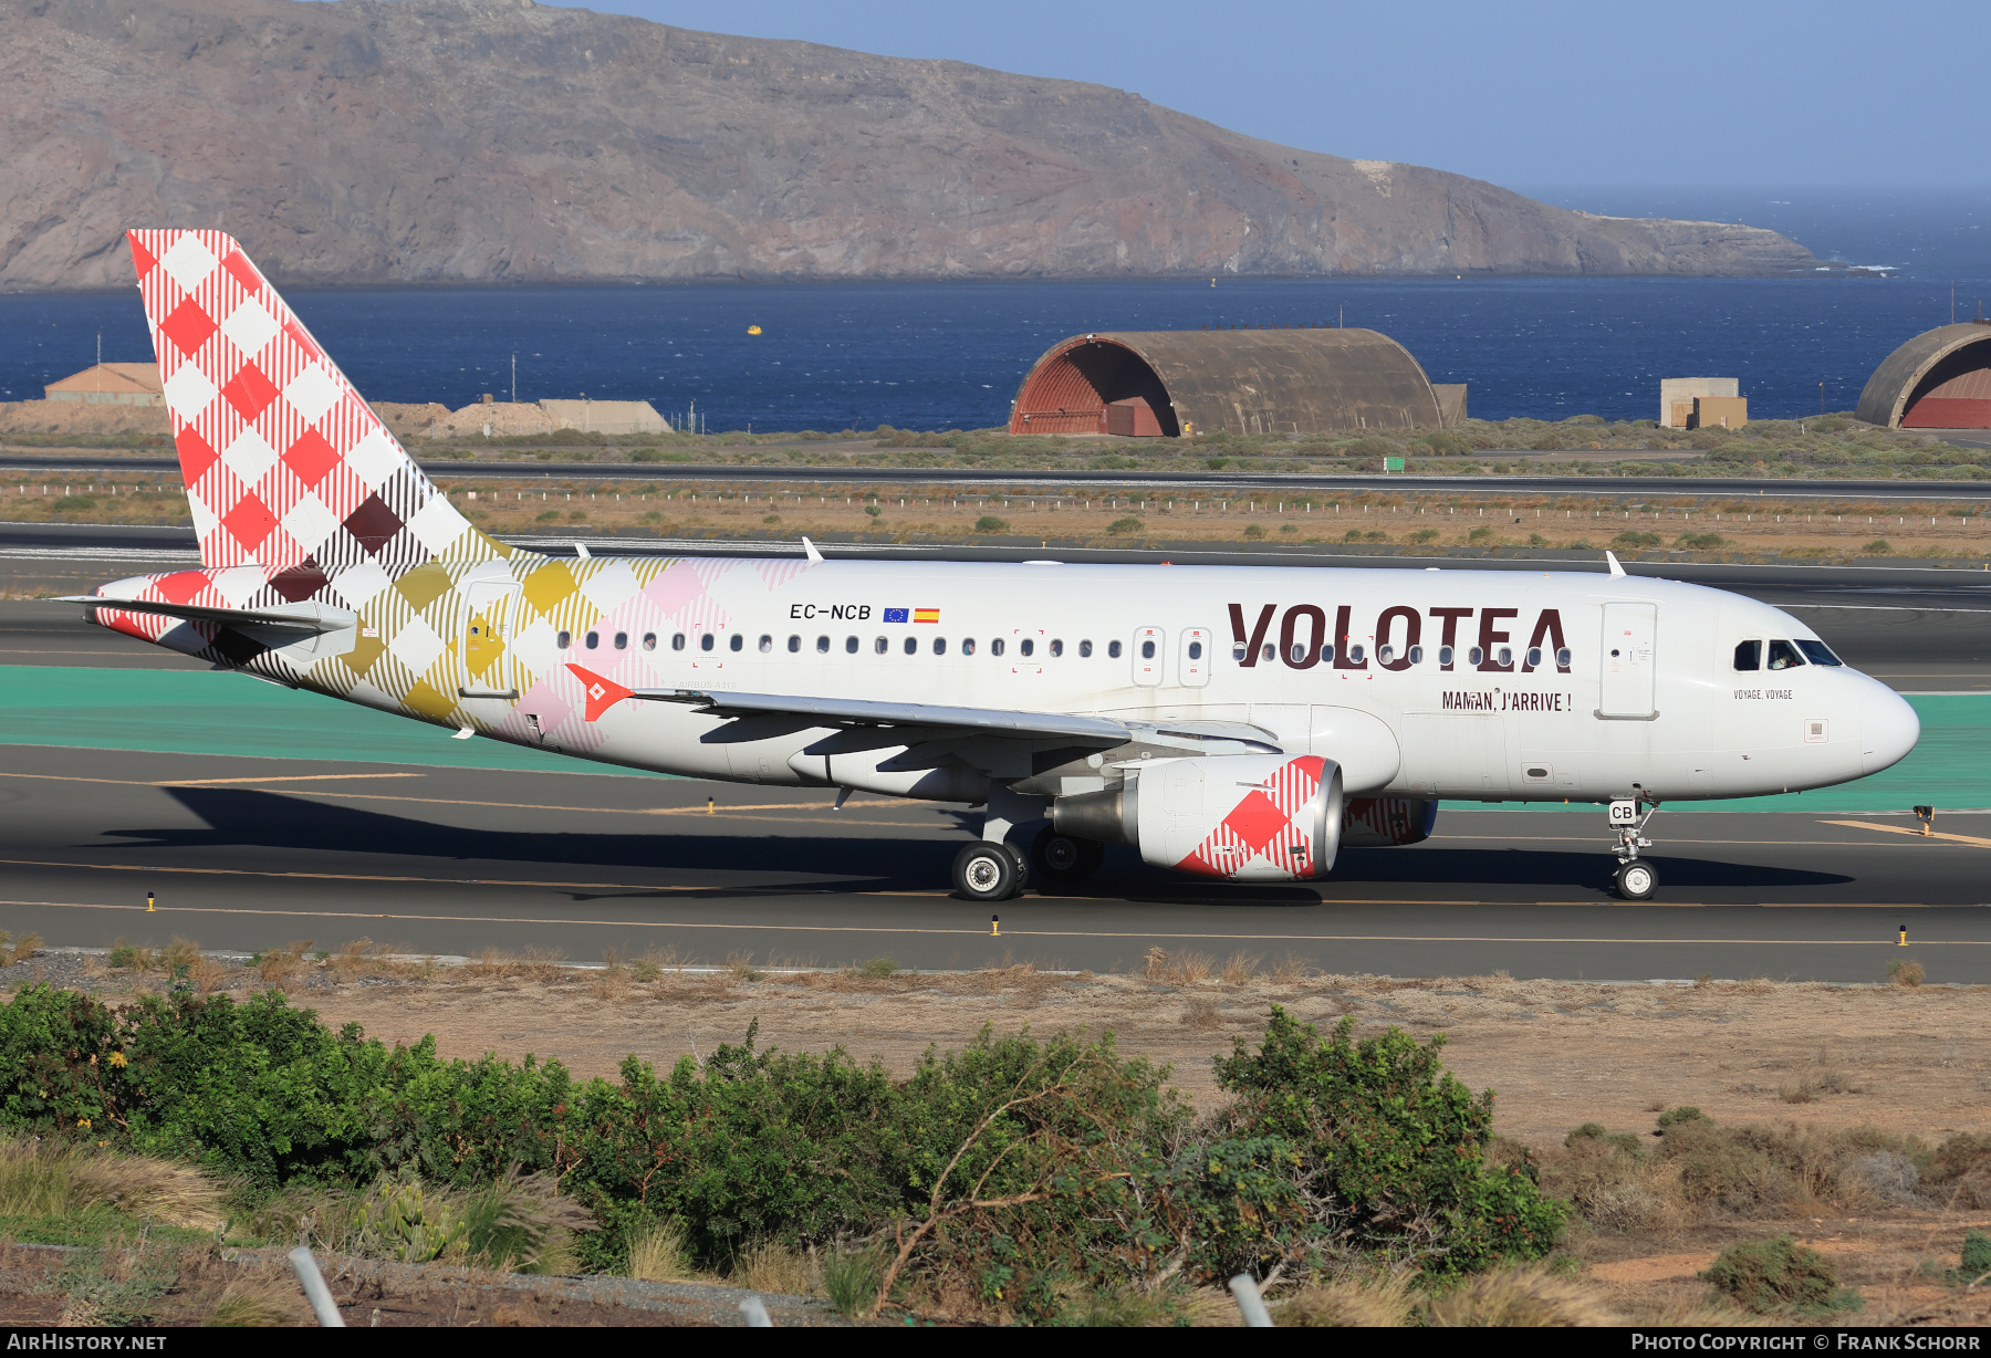
[[[1362,544],[1368,548],[1497,550],[1617,548],[1690,552],[1700,558],[1983,558],[1991,520],[1957,516],[1953,504],[1778,504],[1766,498],[1668,498],[1637,510],[1583,496],[1501,496],[1485,506],[1469,496],[1396,496],[1384,490],[1278,498],[1228,496],[1049,496],[922,486],[852,492],[763,490],[743,470],[725,486],[645,482],[550,482],[530,490],[436,470],[432,476],[480,528],[496,534],[550,534],[559,540],[637,534],[653,538],[765,538],[970,542],[976,538],[1045,544],[1264,542]],[[88,502],[88,504],[86,504]],[[60,506],[60,508],[58,508]],[[868,510],[878,510],[870,514]],[[90,472],[68,484],[48,474],[0,478],[0,520],[74,524],[181,522],[177,478]],[[986,524],[984,520],[997,520]],[[982,528],[978,528],[982,524]],[[1641,546],[1619,534],[1641,534]]]

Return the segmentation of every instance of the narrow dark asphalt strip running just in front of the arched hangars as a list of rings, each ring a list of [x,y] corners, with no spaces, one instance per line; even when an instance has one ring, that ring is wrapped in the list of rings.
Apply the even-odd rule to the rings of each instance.
[[[1519,456],[1519,454],[1501,454]],[[1609,458],[1609,452],[1599,452]],[[424,462],[444,480],[617,480],[713,482],[755,486],[1037,486],[1069,490],[1175,490],[1175,492],[1388,492],[1473,496],[1764,496],[1778,500],[1903,500],[1991,502],[1991,482],[1951,480],[1774,480],[1742,476],[1384,476],[1322,472],[1085,472],[916,466],[757,466],[743,462]],[[0,454],[0,472],[163,472],[177,476],[179,458],[46,458]]]

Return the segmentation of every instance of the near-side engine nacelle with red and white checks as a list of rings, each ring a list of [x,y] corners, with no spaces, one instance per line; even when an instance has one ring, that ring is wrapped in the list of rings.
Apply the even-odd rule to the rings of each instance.
[[[1342,771],[1318,755],[1157,759],[1119,792],[1059,796],[1065,834],[1131,844],[1159,868],[1240,882],[1326,876],[1342,836]]]

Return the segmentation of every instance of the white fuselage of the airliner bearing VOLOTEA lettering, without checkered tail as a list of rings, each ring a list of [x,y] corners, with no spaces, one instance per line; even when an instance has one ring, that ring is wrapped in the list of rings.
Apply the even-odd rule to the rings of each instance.
[[[1766,651],[1816,637],[1770,605],[1664,579],[898,562],[828,562],[776,579],[761,566],[771,564],[703,564],[723,595],[709,621],[603,617],[587,633],[544,621],[502,633],[522,673],[573,663],[633,689],[1244,723],[1288,753],[1336,759],[1352,796],[1754,796],[1876,773],[1919,735],[1907,703],[1848,667],[1738,671],[1738,643]],[[530,701],[466,707],[486,703],[496,717]],[[876,739],[850,755],[804,753],[834,729],[753,721],[619,703],[585,745],[538,743],[707,779],[978,798],[968,785],[890,769],[896,751]],[[516,723],[480,727],[520,739]],[[1031,773],[1001,759],[986,773]]]

